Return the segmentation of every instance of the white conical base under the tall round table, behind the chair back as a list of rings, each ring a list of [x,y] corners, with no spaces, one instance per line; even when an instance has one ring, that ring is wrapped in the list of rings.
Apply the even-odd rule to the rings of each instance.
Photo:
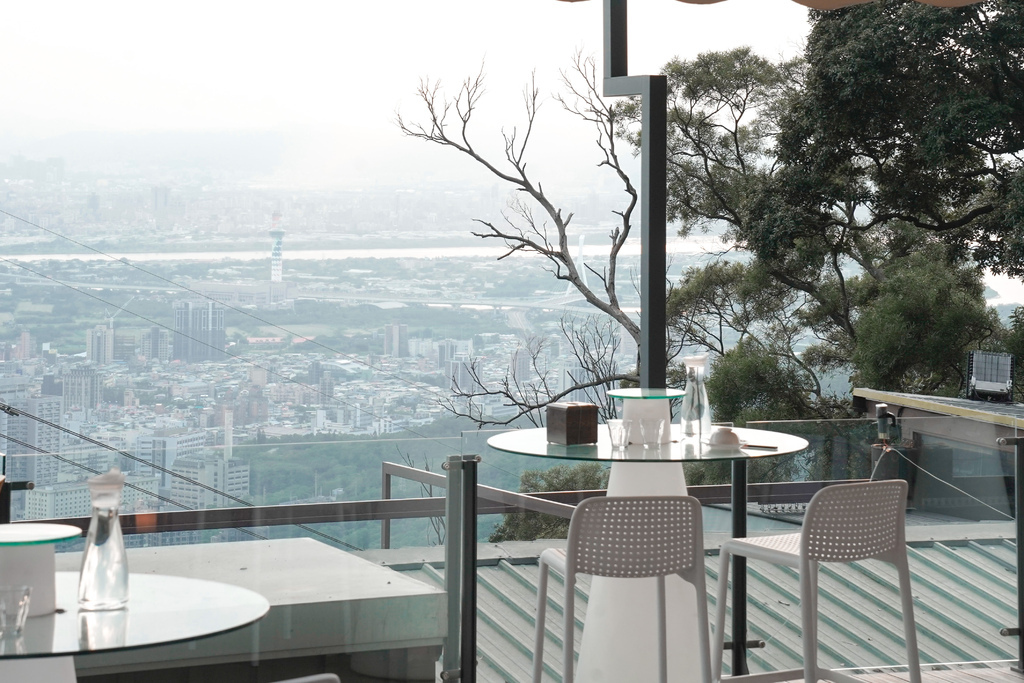
[[[630,403],[660,401],[627,401]],[[685,496],[680,463],[613,463],[608,496]],[[669,680],[698,683],[696,596],[693,587],[670,577],[668,600]],[[707,599],[707,596],[700,596]],[[653,579],[606,579],[591,583],[575,680],[587,683],[657,680],[657,624]],[[688,647],[687,644],[693,644]]]

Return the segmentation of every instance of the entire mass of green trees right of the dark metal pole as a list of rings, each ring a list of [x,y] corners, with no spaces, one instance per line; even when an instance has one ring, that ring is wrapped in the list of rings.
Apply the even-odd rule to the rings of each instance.
[[[680,345],[719,356],[720,419],[844,415],[843,376],[955,394],[1001,335],[979,266],[1024,273],[1024,6],[812,16],[805,60],[665,70],[670,212],[751,254],[670,296]]]

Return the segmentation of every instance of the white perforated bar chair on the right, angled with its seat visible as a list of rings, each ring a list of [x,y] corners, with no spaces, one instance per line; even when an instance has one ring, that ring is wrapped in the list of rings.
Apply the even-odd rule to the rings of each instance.
[[[807,506],[799,533],[732,539],[722,544],[715,614],[715,680],[722,679],[723,629],[729,559],[741,555],[797,569],[800,573],[800,613],[803,625],[804,668],[733,676],[726,681],[785,681],[803,674],[805,683],[819,678],[837,683],[860,683],[852,676],[822,669],[817,664],[817,593],[820,562],[877,559],[896,566],[903,610],[903,633],[910,683],[921,683],[918,638],[913,624],[910,569],[906,559],[906,481],[865,481],[822,488]]]

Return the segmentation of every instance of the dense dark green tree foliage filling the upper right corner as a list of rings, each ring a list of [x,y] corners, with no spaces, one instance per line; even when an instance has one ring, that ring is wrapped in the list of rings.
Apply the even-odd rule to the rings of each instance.
[[[778,145],[790,215],[811,217],[799,230],[829,229],[852,203],[866,212],[860,229],[903,220],[961,257],[1024,272],[1021,3],[821,12],[806,56]]]

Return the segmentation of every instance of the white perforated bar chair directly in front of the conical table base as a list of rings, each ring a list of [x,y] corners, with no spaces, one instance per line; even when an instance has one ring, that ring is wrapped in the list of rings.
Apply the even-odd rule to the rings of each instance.
[[[620,579],[657,579],[658,673],[668,680],[665,578],[678,574],[696,589],[702,680],[711,683],[708,593],[705,588],[703,529],[700,503],[688,496],[590,498],[572,513],[564,551],[541,554],[537,596],[534,682],[544,668],[544,622],[548,573],[565,577],[565,632],[562,681],[572,683],[578,573]]]

